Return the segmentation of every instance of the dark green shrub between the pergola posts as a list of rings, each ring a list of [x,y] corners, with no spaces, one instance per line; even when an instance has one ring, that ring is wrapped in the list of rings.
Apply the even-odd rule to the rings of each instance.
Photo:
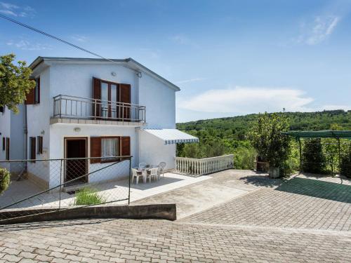
[[[303,147],[303,171],[307,173],[326,173],[326,157],[323,154],[322,140],[306,140]]]

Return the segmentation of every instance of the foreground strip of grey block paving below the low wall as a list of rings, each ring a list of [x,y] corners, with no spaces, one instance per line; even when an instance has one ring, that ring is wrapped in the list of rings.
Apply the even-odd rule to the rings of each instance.
[[[181,224],[76,220],[5,227],[0,262],[350,262],[351,236]]]

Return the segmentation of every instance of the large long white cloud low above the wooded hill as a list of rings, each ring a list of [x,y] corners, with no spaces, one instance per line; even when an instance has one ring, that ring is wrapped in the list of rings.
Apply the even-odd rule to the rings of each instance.
[[[178,106],[198,112],[231,112],[250,114],[257,112],[311,112],[308,105],[312,97],[293,88],[235,87],[208,90],[190,100],[180,101]]]

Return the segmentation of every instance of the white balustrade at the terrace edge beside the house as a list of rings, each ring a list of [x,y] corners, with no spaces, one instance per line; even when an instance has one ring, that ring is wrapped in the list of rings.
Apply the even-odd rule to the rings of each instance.
[[[187,175],[208,175],[221,170],[234,168],[234,155],[228,154],[204,159],[176,157],[175,168],[177,173]]]

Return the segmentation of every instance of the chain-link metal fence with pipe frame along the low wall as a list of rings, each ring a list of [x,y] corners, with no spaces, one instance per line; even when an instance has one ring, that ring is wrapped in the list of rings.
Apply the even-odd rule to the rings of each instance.
[[[131,157],[0,161],[11,183],[0,196],[0,223],[12,218],[130,202]],[[16,209],[11,213],[11,208]],[[1,213],[5,212],[6,213]]]

